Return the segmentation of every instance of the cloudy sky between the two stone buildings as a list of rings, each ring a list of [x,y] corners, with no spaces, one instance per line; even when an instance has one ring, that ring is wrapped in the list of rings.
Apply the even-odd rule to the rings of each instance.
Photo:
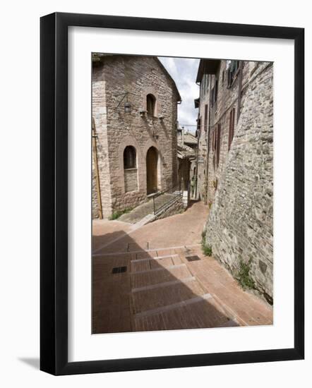
[[[181,95],[182,104],[178,105],[179,125],[188,131],[195,132],[198,111],[194,108],[194,99],[199,95],[196,85],[199,59],[158,57],[174,79]],[[187,126],[191,124],[192,126]]]

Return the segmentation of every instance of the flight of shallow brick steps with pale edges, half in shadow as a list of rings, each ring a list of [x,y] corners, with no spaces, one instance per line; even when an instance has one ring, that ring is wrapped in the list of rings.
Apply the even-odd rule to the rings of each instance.
[[[131,260],[133,331],[237,326],[193,269],[200,247],[137,253]]]

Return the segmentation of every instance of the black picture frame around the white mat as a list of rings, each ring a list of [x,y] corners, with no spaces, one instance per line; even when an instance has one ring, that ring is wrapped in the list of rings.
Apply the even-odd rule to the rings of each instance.
[[[68,362],[68,26],[294,40],[294,348]],[[40,33],[40,369],[73,375],[303,359],[304,29],[52,13]]]

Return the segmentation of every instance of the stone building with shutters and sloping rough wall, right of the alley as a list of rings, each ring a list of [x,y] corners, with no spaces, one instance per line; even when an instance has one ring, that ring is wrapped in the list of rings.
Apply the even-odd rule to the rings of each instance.
[[[248,267],[273,301],[273,64],[201,60],[197,83],[198,193],[205,241],[234,276]]]

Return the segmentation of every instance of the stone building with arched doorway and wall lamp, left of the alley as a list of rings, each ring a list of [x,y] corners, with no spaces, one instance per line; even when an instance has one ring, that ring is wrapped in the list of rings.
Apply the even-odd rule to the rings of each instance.
[[[176,186],[179,102],[157,57],[93,54],[93,218]]]

